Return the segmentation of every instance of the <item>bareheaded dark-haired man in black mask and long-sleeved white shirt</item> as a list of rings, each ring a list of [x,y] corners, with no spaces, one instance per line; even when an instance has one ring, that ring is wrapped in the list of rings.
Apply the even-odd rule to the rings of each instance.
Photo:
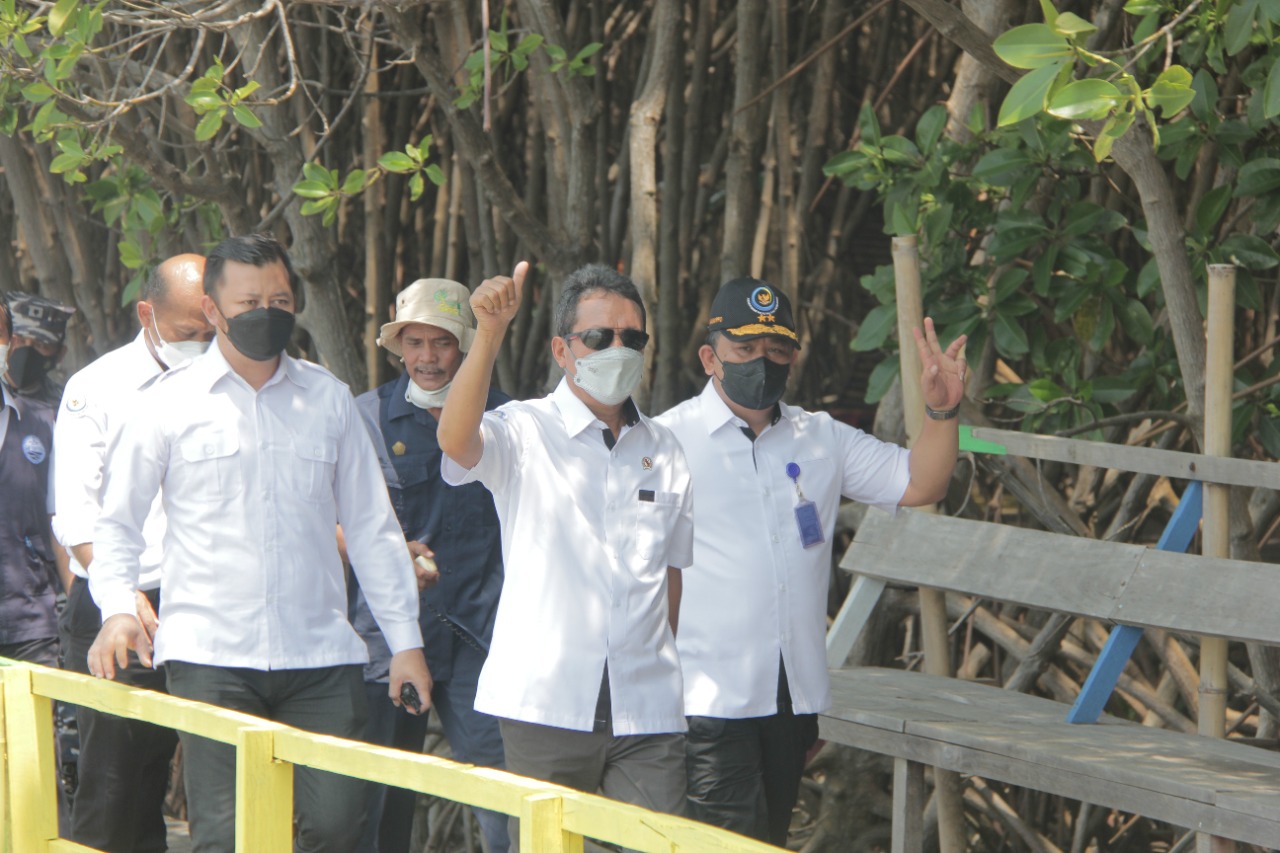
[[[138,396],[108,451],[90,590],[102,629],[90,671],[114,678],[151,643],[136,615],[143,525],[159,493],[168,529],[155,661],[169,692],[306,731],[357,738],[365,643],[347,621],[334,523],[392,651],[389,689],[430,697],[417,583],[369,433],[347,387],[284,352],[297,277],[271,237],[224,240],[205,264],[202,356]],[[195,849],[233,853],[236,748],[183,745]],[[351,850],[365,783],[296,767],[294,850]]]

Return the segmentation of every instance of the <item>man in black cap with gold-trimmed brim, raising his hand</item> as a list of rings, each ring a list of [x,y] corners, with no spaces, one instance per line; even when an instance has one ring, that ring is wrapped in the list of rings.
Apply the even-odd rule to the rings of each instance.
[[[955,466],[964,337],[943,352],[924,321],[924,430],[908,452],[781,402],[797,352],[787,297],[751,278],[712,304],[703,393],[657,420],[698,489],[680,662],[691,817],[786,845],[817,713],[831,704],[827,588],[841,497],[919,506]],[[733,606],[724,602],[732,598]]]

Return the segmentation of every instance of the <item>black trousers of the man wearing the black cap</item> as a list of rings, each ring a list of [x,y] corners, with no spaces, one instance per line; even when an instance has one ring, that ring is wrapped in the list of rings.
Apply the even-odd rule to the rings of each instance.
[[[689,717],[689,816],[786,847],[805,753],[817,740],[818,716],[791,711],[785,671],[780,672],[777,713],[741,720]]]

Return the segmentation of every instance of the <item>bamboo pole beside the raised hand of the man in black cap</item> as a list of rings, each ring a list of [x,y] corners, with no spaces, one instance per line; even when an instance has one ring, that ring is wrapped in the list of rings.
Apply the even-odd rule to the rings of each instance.
[[[920,389],[920,373],[924,368],[911,336],[911,329],[924,325],[920,254],[914,234],[893,238],[893,282],[897,292],[902,415],[906,421],[906,446],[910,447],[924,425],[924,392]],[[934,511],[933,507],[919,508],[925,512]],[[924,671],[929,675],[950,676],[947,606],[941,590],[920,589],[920,644],[924,648]],[[933,780],[938,802],[938,847],[942,853],[960,853],[965,849],[960,776],[950,770],[934,767]]]

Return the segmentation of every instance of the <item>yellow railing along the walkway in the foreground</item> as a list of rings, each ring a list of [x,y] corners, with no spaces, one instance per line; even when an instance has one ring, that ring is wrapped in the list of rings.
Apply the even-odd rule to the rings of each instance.
[[[653,853],[777,849],[717,827],[500,770],[300,731],[247,713],[74,672],[3,663],[0,839],[14,853],[92,853],[58,836],[54,699],[234,745],[236,849],[241,853],[292,849],[294,765],[516,815],[521,849],[536,853],[580,853],[584,838]]]

